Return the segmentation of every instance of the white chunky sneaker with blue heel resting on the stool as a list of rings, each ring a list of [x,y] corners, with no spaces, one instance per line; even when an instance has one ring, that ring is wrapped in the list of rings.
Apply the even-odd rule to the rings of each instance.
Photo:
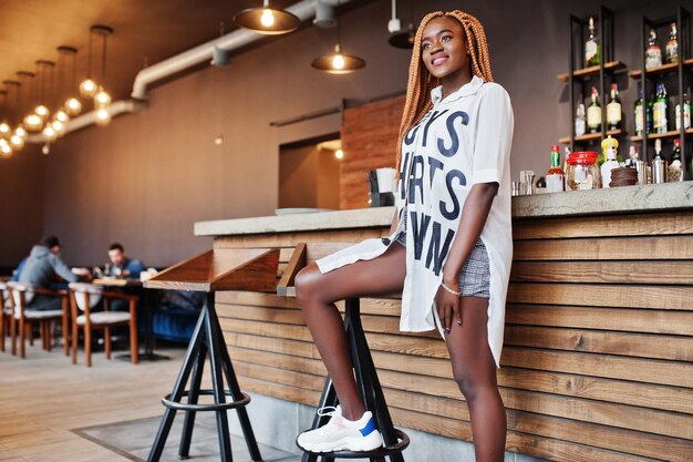
[[[320,415],[331,415],[328,423],[316,430],[304,431],[296,439],[297,444],[310,452],[371,451],[383,445],[383,439],[370,411],[354,421],[342,417],[342,408],[321,408]]]

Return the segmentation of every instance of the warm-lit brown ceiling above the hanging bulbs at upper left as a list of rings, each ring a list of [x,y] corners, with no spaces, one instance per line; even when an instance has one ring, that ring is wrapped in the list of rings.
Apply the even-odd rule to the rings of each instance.
[[[273,0],[286,8],[297,0]],[[105,86],[114,101],[127,97],[137,72],[237,29],[234,14],[260,0],[3,0],[0,14],[0,82],[17,71],[35,72],[37,60],[58,61],[59,45],[77,49],[77,80],[86,74],[90,25],[114,29],[107,40]],[[100,75],[101,39],[93,74]],[[62,61],[61,61],[62,62]],[[60,71],[60,69],[59,69]],[[62,68],[71,80],[69,64]],[[10,100],[10,104],[12,100]]]

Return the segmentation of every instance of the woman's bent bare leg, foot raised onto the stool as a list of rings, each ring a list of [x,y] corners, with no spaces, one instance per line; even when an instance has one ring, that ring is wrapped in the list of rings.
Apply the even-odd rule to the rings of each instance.
[[[316,264],[303,268],[296,277],[296,296],[313,336],[318,351],[342,407],[344,418],[356,420],[365,405],[356,389],[344,322],[334,306],[350,297],[390,295],[404,285],[405,249],[397,243],[380,257],[320,273]]]

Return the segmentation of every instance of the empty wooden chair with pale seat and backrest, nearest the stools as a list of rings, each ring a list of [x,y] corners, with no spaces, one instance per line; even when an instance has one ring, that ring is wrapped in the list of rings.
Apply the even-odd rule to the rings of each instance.
[[[120,298],[130,302],[128,312],[110,311],[110,300]],[[103,300],[103,311],[91,312]],[[137,300],[138,297],[116,291],[106,291],[103,287],[85,283],[70,284],[70,305],[72,307],[72,363],[77,363],[77,338],[80,328],[84,331],[84,356],[86,367],[92,367],[92,330],[104,331],[106,359],[111,359],[111,328],[130,326],[130,353],[133,365],[139,362],[137,345]],[[83,314],[80,314],[83,312]]]

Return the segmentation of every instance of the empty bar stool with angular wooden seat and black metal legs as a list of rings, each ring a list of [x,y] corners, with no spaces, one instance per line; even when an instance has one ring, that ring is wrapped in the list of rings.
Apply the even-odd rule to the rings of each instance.
[[[179,459],[190,456],[190,440],[196,413],[215,412],[220,460],[231,461],[227,417],[227,411],[230,409],[238,412],[238,420],[251,460],[262,461],[246,410],[250,397],[240,390],[234,372],[215,309],[215,292],[217,290],[272,291],[276,289],[278,266],[279,250],[277,249],[269,251],[267,249],[215,249],[168,268],[145,283],[146,288],[207,292],[207,300],[200,311],[173,391],[162,399],[166,410],[152,445],[148,462],[156,462],[161,459],[176,411],[186,412],[178,448]],[[200,384],[207,357],[211,369],[211,389],[204,390],[200,389]],[[190,373],[193,374],[190,388],[186,390]],[[225,387],[224,379],[228,388]],[[198,403],[200,396],[213,396],[215,402],[200,404]],[[187,402],[183,402],[184,397],[187,397]],[[227,401],[227,398],[230,398],[230,401]]]

